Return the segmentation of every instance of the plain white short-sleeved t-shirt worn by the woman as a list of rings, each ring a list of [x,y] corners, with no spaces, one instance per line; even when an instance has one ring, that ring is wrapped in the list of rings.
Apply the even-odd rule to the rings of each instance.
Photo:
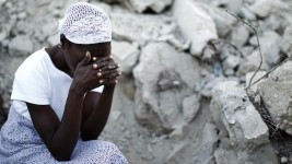
[[[31,119],[25,102],[50,105],[61,120],[72,78],[52,63],[45,48],[34,52],[19,67],[11,94],[12,107]],[[100,86],[94,92],[102,92]]]

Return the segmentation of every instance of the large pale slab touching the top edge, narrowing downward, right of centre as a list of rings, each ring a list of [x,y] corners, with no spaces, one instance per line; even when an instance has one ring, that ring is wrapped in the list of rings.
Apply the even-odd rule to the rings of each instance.
[[[175,0],[173,14],[182,34],[191,42],[191,55],[200,56],[206,44],[218,38],[214,21],[198,2]]]

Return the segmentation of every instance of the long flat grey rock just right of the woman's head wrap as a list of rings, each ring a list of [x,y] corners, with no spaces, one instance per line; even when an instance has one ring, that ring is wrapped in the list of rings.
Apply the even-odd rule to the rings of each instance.
[[[114,10],[112,15],[113,37],[116,40],[137,42],[145,45],[173,33],[174,20],[165,15],[135,14]]]

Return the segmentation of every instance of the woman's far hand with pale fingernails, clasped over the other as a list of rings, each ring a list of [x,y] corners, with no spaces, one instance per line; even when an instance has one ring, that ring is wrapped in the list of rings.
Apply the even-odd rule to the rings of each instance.
[[[101,59],[92,58],[93,68],[97,70],[96,75],[101,79],[100,84],[113,85],[116,84],[117,78],[121,74],[119,66],[115,62],[112,56],[103,57]]]

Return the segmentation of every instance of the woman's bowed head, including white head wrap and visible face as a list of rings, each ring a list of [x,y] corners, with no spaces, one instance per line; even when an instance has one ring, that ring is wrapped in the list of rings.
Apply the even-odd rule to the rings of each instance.
[[[72,71],[86,51],[94,57],[110,54],[112,22],[95,5],[86,2],[70,5],[59,22],[59,33],[66,62]]]

